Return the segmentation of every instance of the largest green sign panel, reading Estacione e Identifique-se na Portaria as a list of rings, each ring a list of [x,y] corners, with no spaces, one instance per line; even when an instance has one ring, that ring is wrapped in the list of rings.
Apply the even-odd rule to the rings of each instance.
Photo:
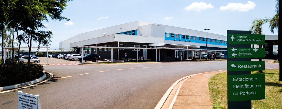
[[[265,99],[265,75],[228,75],[228,101]]]

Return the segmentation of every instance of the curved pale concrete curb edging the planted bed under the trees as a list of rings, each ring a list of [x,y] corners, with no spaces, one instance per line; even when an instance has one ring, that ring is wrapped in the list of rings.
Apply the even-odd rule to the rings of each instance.
[[[0,91],[8,90],[8,89],[14,89],[14,88],[19,88],[19,87],[35,84],[35,83],[38,83],[39,81],[41,81],[41,80],[43,80],[45,78],[46,78],[46,74],[45,74],[45,72],[43,72],[43,76],[38,78],[38,79],[36,79],[36,80],[30,81],[30,82],[21,83],[21,84],[16,84],[16,85],[0,87]]]

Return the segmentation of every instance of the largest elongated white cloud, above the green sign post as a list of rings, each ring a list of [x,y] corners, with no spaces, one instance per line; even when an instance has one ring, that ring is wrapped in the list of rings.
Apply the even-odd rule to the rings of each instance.
[[[255,3],[248,1],[247,4],[242,4],[242,3],[228,3],[227,6],[221,6],[219,9],[220,10],[238,10],[238,11],[248,11],[248,10],[252,10],[255,8]]]

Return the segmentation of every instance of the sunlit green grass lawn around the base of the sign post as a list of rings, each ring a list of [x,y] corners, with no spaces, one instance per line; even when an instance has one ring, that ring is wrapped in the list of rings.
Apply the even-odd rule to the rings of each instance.
[[[258,71],[252,71],[257,74]],[[279,69],[267,69],[265,73],[265,99],[252,100],[255,109],[282,109],[282,82]],[[227,73],[219,73],[208,82],[213,109],[227,109]]]

